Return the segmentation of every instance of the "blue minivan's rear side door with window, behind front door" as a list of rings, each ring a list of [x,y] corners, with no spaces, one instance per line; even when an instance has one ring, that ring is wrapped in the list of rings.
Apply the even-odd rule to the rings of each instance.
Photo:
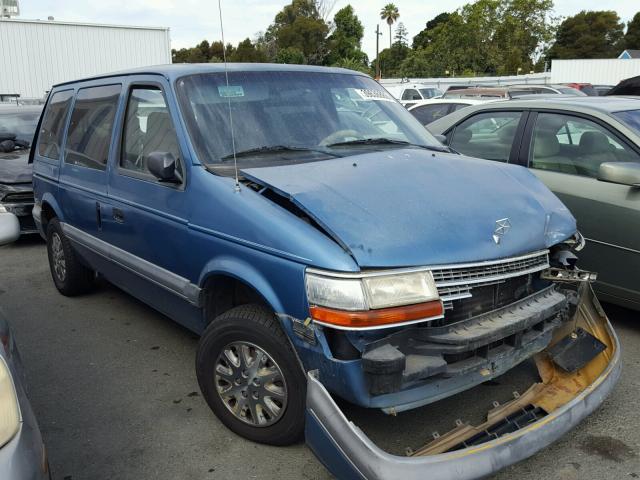
[[[120,84],[112,84],[76,91],[59,177],[59,203],[65,222],[76,229],[75,233],[79,230],[102,237],[102,213],[108,203],[108,159],[121,89]],[[77,239],[74,231],[65,233]]]

